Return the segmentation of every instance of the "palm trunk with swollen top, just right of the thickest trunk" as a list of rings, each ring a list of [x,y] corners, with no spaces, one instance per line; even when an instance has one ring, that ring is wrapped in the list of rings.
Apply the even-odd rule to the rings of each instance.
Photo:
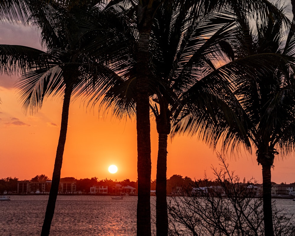
[[[171,131],[168,102],[160,102],[160,114],[156,116],[159,134],[157,176],[156,176],[156,232],[157,235],[168,236],[167,212],[167,139]]]

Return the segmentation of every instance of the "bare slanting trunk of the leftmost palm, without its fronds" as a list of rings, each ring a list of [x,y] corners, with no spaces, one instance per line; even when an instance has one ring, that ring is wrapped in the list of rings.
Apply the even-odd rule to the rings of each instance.
[[[68,130],[68,117],[69,107],[73,88],[72,86],[65,87],[65,95],[63,99],[63,111],[61,115],[60,135],[58,140],[58,146],[56,150],[55,163],[52,175],[52,183],[49,192],[49,198],[47,202],[45,218],[42,226],[41,236],[48,236],[50,232],[50,226],[54,215],[55,202],[58,195],[58,187],[60,181],[60,171],[63,163],[63,151],[65,149],[65,139]]]

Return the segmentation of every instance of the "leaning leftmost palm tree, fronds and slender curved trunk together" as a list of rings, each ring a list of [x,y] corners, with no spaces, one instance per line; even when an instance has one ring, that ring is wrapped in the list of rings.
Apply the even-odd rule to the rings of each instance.
[[[0,51],[2,65],[15,64],[14,68],[20,68],[23,71],[19,87],[20,100],[24,104],[25,111],[29,109],[30,112],[34,112],[40,109],[43,100],[48,96],[63,96],[60,137],[41,232],[41,235],[49,235],[58,194],[71,95],[80,95],[82,91],[85,92],[81,88],[89,81],[91,84],[96,84],[99,83],[97,78],[106,79],[117,75],[98,58],[88,57],[83,49],[87,45],[87,40],[76,37],[77,19],[83,19],[81,12],[91,9],[97,2],[89,1],[84,5],[42,3],[40,1],[39,4],[27,7],[30,10],[29,20],[41,29],[42,42],[45,43],[47,51],[37,50],[36,52],[32,48],[13,45],[1,45]],[[87,89],[89,90],[89,86]]]

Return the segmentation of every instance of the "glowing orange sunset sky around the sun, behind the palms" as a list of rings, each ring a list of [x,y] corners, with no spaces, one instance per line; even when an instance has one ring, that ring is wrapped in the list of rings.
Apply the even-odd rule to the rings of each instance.
[[[19,25],[1,25],[0,43],[41,48],[36,30]],[[61,119],[61,99],[48,99],[33,116],[25,116],[14,89],[16,77],[0,76],[0,178],[31,179],[45,174],[52,177]],[[79,101],[71,104],[68,135],[61,177],[137,179],[137,145],[135,121],[117,121],[101,117],[97,110],[86,111]],[[158,135],[151,124],[152,180],[156,178]],[[255,151],[254,151],[255,152]],[[168,143],[167,177],[173,174],[194,179],[212,178],[211,166],[219,168],[216,154],[196,138],[176,137]],[[242,154],[228,160],[230,170],[240,176],[262,182],[261,165],[255,156]],[[109,165],[118,172],[108,172]],[[295,182],[295,158],[276,157],[272,180]]]

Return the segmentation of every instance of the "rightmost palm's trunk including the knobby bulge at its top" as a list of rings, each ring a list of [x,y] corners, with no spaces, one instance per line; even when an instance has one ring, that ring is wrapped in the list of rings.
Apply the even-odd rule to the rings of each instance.
[[[277,152],[269,147],[265,151],[259,151],[259,149],[257,151],[258,165],[260,163],[262,165],[264,236],[274,236],[271,206],[271,166],[273,165],[274,154],[277,154]]]

